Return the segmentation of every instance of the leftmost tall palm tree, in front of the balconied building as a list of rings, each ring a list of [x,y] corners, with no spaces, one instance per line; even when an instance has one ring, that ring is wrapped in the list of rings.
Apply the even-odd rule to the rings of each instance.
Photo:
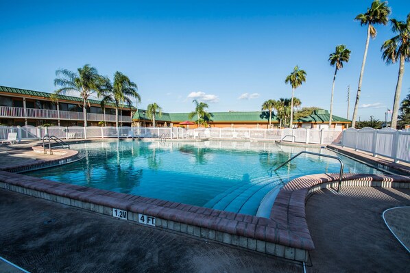
[[[77,73],[73,73],[67,69],[56,70],[57,78],[54,79],[54,86],[61,86],[55,91],[56,94],[61,94],[67,91],[76,91],[80,93],[82,98],[82,113],[84,116],[84,127],[87,126],[87,103],[90,107],[88,98],[92,94],[101,96],[104,93],[104,85],[106,78],[98,74],[98,71],[89,64],[77,69]]]

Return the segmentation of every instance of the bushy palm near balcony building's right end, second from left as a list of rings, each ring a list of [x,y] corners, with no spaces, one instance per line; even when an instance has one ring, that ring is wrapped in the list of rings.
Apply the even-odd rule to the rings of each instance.
[[[141,96],[136,92],[137,86],[130,78],[123,75],[121,72],[114,73],[114,83],[110,80],[106,81],[106,95],[101,101],[101,108],[104,109],[107,103],[112,103],[115,107],[115,126],[118,128],[118,109],[125,103],[128,106],[132,105],[130,99],[136,99],[137,103],[141,102]]]

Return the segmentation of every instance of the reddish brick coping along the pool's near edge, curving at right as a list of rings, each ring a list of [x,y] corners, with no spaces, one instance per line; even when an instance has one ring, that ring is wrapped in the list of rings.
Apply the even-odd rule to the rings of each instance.
[[[53,151],[64,153],[62,158],[65,159],[76,156],[71,150]],[[51,161],[59,165],[59,160],[62,159]],[[45,162],[39,160],[29,165],[35,164]],[[142,213],[156,217],[156,228],[297,261],[307,261],[309,250],[315,248],[306,223],[306,197],[320,188],[336,186],[337,179],[338,174],[313,174],[293,179],[278,193],[268,219],[0,171],[0,187],[8,190],[108,216],[112,216],[113,208],[121,209],[128,211],[128,220],[137,223],[138,213]],[[409,177],[392,175],[344,174],[343,180],[346,181],[342,185],[407,188],[410,185]]]

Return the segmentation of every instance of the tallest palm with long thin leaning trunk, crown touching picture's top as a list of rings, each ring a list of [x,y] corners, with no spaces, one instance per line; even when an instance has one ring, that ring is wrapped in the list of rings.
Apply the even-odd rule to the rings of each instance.
[[[387,6],[387,1],[381,2],[379,0],[374,0],[372,6],[367,8],[367,12],[364,14],[359,14],[354,18],[356,21],[360,21],[360,25],[367,25],[367,38],[365,45],[365,53],[363,55],[363,62],[361,63],[361,70],[359,76],[359,86],[357,87],[356,102],[354,103],[353,117],[352,117],[352,128],[356,123],[357,109],[359,108],[359,98],[361,93],[361,81],[363,80],[363,73],[365,71],[365,63],[367,57],[367,49],[369,48],[370,36],[376,38],[377,31],[374,28],[376,24],[386,25],[389,21],[389,14],[391,13],[390,8]]]

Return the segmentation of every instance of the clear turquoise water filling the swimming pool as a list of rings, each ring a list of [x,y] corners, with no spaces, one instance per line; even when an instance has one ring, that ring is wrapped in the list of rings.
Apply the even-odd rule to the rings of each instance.
[[[339,172],[335,159],[302,155],[319,148],[258,142],[107,141],[74,144],[85,158],[27,172],[34,177],[162,200],[256,215],[264,196],[306,174]],[[322,153],[335,153],[322,150]],[[340,157],[340,156],[339,156]],[[343,157],[344,172],[382,173]]]

